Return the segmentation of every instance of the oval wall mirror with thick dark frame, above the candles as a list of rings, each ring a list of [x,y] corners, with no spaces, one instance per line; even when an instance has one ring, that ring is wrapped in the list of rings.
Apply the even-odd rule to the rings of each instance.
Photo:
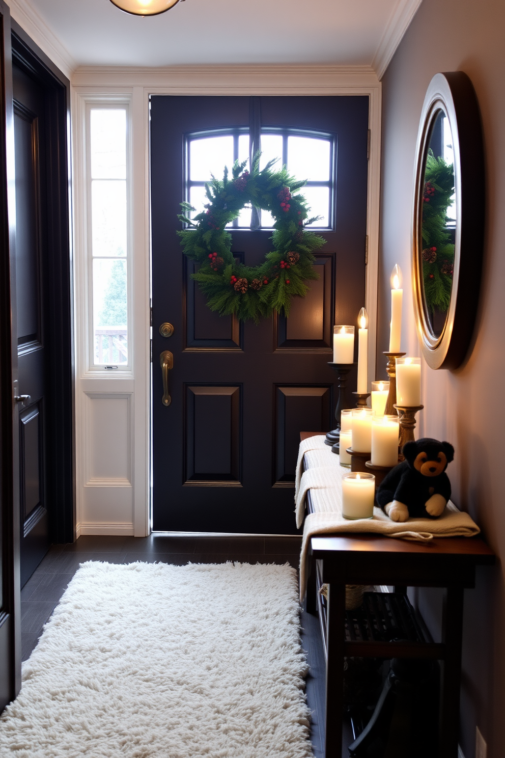
[[[413,199],[412,279],[431,368],[465,359],[479,299],[485,211],[479,106],[466,74],[435,74],[422,105]]]

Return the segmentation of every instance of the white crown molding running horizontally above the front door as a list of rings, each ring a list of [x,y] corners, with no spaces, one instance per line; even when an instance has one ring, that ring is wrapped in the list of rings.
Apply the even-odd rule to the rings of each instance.
[[[269,95],[293,90],[293,94],[310,89],[317,95],[338,89],[358,92],[379,86],[370,66],[263,64],[198,65],[167,67],[79,66],[71,77],[74,87],[143,86],[170,89],[176,94],[204,94],[226,89],[229,94]]]

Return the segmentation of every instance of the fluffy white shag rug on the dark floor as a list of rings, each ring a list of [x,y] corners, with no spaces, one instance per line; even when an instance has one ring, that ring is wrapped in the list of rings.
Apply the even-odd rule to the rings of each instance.
[[[2,758],[306,758],[288,565],[87,562],[0,719]]]

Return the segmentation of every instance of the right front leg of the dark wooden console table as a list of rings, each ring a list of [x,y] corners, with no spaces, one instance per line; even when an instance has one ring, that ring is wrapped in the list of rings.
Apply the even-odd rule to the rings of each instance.
[[[439,756],[457,758],[460,735],[461,645],[463,637],[463,587],[447,587],[442,611]]]

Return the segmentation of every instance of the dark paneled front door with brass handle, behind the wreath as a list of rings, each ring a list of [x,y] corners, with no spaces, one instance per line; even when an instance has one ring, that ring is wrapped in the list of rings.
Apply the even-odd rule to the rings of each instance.
[[[368,107],[367,97],[261,97],[254,108],[248,97],[151,98],[154,530],[295,533],[299,433],[331,428],[332,327],[354,323],[364,302]],[[239,324],[210,312],[182,255],[185,150],[192,135],[227,129],[332,139],[320,278],[287,319]],[[271,234],[233,228],[232,251],[258,265]],[[173,353],[168,407],[164,350]]]

